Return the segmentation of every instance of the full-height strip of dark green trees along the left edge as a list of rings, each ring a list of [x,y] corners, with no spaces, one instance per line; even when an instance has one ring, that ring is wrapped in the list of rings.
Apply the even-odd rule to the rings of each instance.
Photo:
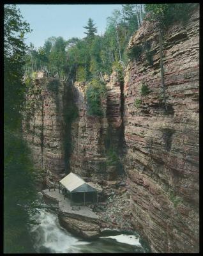
[[[21,133],[24,34],[29,32],[19,10],[4,6],[4,252],[31,252],[28,212],[35,208],[33,165]]]

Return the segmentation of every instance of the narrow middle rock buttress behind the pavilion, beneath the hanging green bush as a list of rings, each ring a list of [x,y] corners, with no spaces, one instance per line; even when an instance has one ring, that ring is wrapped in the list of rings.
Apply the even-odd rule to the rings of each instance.
[[[70,171],[93,180],[105,176],[105,145],[107,118],[88,116],[86,105],[86,83],[76,82],[75,105],[79,116],[71,124]],[[105,108],[105,102],[104,108]]]

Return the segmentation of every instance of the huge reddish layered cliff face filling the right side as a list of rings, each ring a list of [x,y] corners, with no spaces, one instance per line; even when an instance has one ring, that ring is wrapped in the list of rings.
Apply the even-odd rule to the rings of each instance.
[[[143,22],[129,44],[147,42],[153,51],[153,63],[142,51],[124,79],[125,171],[133,225],[153,252],[199,252],[199,10],[186,25],[170,27],[164,41],[166,115],[154,24]],[[140,93],[143,84],[149,88],[146,95]]]

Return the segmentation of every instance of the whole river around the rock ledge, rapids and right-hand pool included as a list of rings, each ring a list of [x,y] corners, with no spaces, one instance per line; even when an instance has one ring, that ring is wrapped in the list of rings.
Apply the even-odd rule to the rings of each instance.
[[[100,238],[86,241],[75,237],[59,225],[55,212],[41,209],[30,228],[36,253],[149,252],[146,243],[135,232],[104,230]]]

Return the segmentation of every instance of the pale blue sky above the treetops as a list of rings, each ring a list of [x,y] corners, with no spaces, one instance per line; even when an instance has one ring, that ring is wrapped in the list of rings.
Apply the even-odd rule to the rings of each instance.
[[[32,42],[35,47],[43,46],[50,36],[71,37],[86,36],[87,20],[94,20],[98,35],[103,34],[107,26],[107,17],[114,9],[121,10],[121,4],[17,4],[24,20],[33,31],[28,33],[26,44]]]

